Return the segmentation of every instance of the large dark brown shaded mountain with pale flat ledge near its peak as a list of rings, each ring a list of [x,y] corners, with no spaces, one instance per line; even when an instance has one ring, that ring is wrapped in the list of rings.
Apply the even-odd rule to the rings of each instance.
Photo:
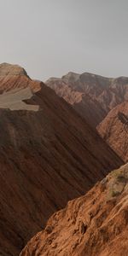
[[[122,160],[45,84],[17,66],[0,70],[0,254],[16,256],[53,212]]]

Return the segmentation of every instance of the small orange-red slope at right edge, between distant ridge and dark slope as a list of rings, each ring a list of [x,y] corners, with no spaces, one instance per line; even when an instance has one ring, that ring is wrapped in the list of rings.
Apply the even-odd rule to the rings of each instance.
[[[128,102],[113,108],[97,126],[97,130],[111,148],[125,162],[128,161]]]

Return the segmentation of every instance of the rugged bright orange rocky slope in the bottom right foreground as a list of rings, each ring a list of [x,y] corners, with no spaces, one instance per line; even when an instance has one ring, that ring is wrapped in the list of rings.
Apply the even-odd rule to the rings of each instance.
[[[20,256],[128,255],[128,164],[49,218]]]

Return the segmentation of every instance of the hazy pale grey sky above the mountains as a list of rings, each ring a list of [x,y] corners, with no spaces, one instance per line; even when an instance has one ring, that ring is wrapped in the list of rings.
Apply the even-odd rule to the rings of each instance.
[[[0,62],[42,80],[128,76],[128,1],[0,0]]]

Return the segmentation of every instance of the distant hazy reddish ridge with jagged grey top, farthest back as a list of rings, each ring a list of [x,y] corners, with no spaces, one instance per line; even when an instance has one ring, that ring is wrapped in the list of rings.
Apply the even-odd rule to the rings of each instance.
[[[93,127],[119,103],[128,100],[128,78],[109,79],[91,73],[67,73],[46,84],[75,108]]]

